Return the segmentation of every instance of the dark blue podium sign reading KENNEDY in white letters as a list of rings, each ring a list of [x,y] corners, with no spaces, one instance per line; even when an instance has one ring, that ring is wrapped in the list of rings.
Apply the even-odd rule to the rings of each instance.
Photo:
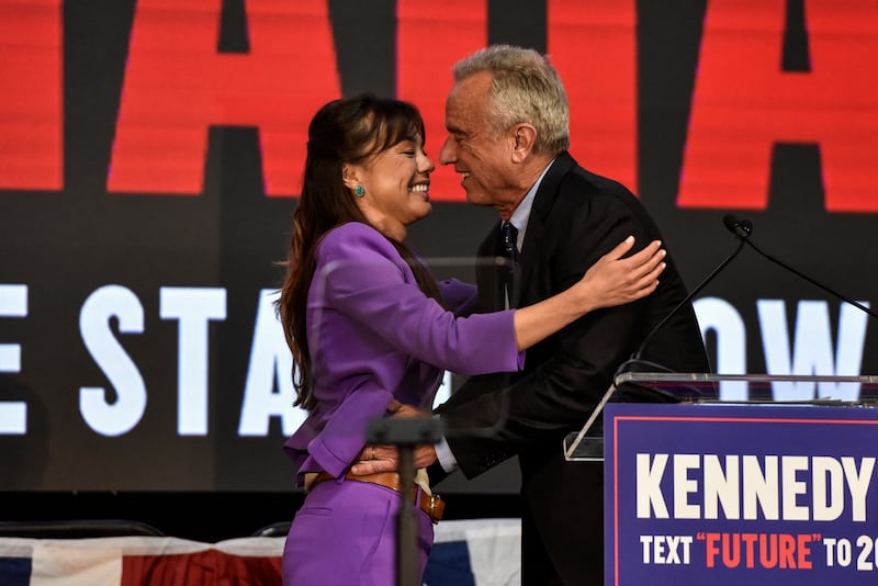
[[[878,409],[608,404],[607,586],[878,581]]]

